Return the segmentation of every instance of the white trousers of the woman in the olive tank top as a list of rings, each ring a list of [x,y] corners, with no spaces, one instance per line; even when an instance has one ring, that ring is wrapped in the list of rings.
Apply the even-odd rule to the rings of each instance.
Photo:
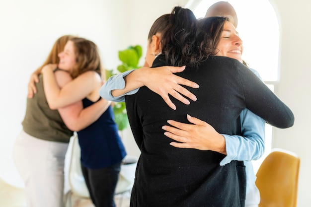
[[[24,131],[13,146],[25,183],[27,207],[64,207],[64,164],[68,143],[34,138]]]

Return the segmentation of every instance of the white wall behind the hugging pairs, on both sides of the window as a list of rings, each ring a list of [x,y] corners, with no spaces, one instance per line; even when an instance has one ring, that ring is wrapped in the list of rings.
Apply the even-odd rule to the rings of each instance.
[[[270,1],[278,13],[281,26],[281,76],[276,94],[288,104],[296,118],[294,127],[274,129],[273,147],[288,149],[300,155],[298,206],[310,207],[311,59],[308,56],[311,27],[308,13],[311,1]],[[0,1],[0,177],[6,182],[19,185],[11,151],[13,141],[21,130],[28,78],[42,64],[59,36],[75,34],[93,40],[101,51],[104,66],[112,69],[119,64],[118,50],[140,44],[145,52],[147,35],[154,20],[161,14],[169,13],[173,6],[184,6],[186,2]],[[264,54],[258,58],[264,61]],[[124,132],[124,142],[129,154],[139,153],[130,130]]]

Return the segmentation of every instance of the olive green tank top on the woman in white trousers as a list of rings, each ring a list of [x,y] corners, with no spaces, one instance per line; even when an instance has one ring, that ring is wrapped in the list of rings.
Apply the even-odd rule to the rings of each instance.
[[[73,132],[66,127],[58,110],[49,108],[41,74],[36,87],[37,93],[33,98],[27,98],[26,114],[22,122],[24,132],[48,141],[69,142]]]

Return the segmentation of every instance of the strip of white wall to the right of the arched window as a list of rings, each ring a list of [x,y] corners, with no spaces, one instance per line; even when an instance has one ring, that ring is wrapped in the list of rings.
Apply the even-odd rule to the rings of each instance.
[[[301,157],[297,206],[310,207],[311,42],[308,36],[311,1],[273,0],[272,3],[281,25],[280,83],[276,93],[295,115],[292,128],[274,130],[272,146],[291,150]]]

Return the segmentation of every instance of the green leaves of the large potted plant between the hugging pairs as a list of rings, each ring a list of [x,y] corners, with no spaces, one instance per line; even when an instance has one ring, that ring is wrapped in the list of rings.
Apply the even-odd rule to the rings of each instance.
[[[106,70],[106,78],[110,76],[125,72],[131,69],[140,68],[139,60],[142,57],[142,47],[140,45],[130,46],[123,51],[119,51],[119,59],[122,62],[117,69]],[[126,129],[129,126],[129,120],[127,117],[125,102],[114,102],[113,112],[115,122],[118,125],[120,131]]]

